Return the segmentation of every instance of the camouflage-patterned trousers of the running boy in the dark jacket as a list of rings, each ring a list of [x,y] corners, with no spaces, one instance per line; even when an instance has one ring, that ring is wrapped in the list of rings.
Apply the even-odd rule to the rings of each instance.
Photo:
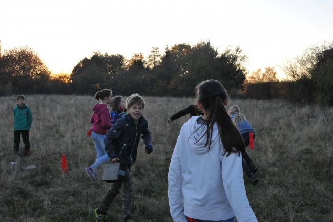
[[[112,183],[107,193],[104,195],[98,210],[102,213],[106,213],[116,198],[122,187],[122,216],[124,221],[131,217],[131,205],[133,198],[133,180],[130,175],[129,169],[125,173],[126,182],[115,182]]]

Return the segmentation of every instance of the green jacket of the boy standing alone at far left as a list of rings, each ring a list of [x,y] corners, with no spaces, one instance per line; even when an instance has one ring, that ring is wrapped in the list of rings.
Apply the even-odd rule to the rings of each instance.
[[[25,104],[14,108],[14,130],[30,130],[32,124],[32,113]]]

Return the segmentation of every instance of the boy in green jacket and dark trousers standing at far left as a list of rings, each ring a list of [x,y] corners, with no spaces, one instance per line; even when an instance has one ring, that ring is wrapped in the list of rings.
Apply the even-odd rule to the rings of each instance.
[[[14,108],[14,154],[18,154],[20,136],[24,143],[24,155],[30,155],[29,130],[32,124],[32,113],[24,103],[24,96],[17,96],[17,106]]]

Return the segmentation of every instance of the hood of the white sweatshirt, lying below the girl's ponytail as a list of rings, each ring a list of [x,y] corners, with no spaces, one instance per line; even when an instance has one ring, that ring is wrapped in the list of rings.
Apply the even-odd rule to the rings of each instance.
[[[189,138],[189,139],[186,139],[186,143],[189,144],[189,146],[193,150],[193,152],[195,152],[197,154],[204,154],[204,153],[208,152],[208,148],[209,148],[209,146],[205,146],[207,136],[204,135],[204,133],[207,130],[207,125],[197,123],[197,120],[200,117],[201,116],[193,116],[188,122],[186,122],[184,124],[184,126],[186,127],[184,130],[184,133],[185,133],[186,138]],[[216,124],[213,127],[213,134],[211,136],[211,139],[212,139],[211,147],[213,147],[216,143],[220,143],[218,127]]]

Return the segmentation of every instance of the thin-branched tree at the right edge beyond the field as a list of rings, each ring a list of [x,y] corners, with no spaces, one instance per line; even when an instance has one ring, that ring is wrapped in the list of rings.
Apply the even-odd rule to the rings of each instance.
[[[281,66],[293,80],[292,93],[308,103],[333,105],[333,39],[307,47]]]

